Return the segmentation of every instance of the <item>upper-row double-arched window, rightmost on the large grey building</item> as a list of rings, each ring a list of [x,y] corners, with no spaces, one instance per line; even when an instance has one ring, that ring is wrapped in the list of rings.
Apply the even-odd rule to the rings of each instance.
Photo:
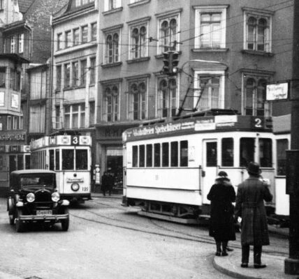
[[[245,50],[270,52],[271,15],[245,11]]]

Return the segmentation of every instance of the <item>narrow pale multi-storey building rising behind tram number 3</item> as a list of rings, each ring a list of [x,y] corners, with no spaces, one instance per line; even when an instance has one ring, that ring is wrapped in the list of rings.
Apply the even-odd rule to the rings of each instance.
[[[94,135],[98,17],[97,1],[69,0],[52,19],[53,132]]]

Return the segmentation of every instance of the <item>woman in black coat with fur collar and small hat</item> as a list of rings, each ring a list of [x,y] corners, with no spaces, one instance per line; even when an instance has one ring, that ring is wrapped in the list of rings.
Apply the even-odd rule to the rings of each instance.
[[[235,202],[235,189],[226,172],[219,172],[207,199],[211,201],[209,235],[216,242],[215,255],[227,256],[228,241],[235,240],[232,204]]]

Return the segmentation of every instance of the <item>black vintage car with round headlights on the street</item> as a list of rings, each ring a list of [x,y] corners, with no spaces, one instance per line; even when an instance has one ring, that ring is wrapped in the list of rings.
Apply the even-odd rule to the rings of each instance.
[[[67,200],[61,200],[56,188],[56,174],[45,169],[17,170],[10,174],[7,210],[10,225],[23,232],[29,223],[49,227],[61,223],[68,230]]]

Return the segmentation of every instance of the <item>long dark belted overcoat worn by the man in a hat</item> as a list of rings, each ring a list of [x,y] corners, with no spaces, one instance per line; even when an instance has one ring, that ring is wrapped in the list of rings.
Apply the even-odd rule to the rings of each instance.
[[[235,216],[242,218],[241,244],[269,245],[269,233],[265,202],[271,202],[272,195],[268,186],[258,177],[249,176],[238,186],[235,203]]]

